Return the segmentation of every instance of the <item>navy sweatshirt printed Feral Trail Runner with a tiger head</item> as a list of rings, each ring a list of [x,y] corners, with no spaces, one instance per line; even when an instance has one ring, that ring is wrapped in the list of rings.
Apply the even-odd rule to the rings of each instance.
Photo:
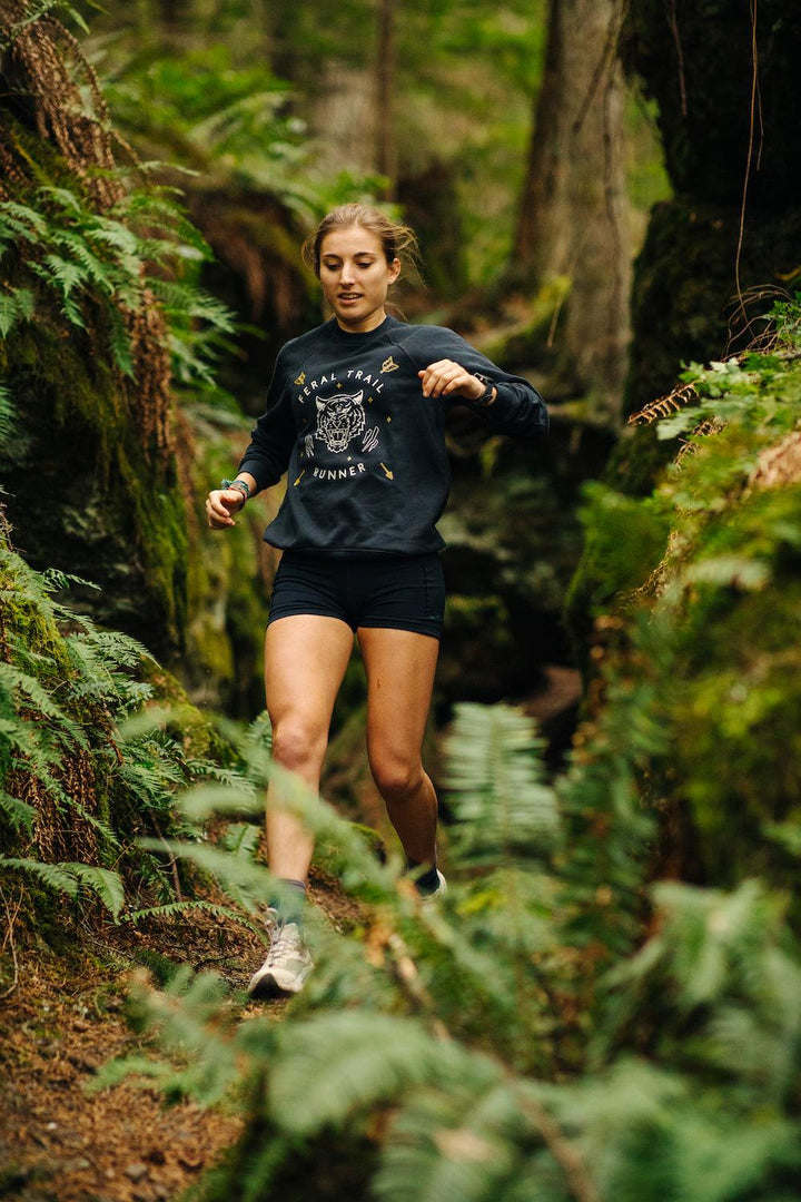
[[[267,542],[340,555],[416,555],[444,546],[436,523],[450,487],[446,409],[470,403],[423,395],[417,373],[437,359],[496,383],[495,403],[476,406],[494,430],[548,432],[539,393],[452,329],[387,317],[353,334],[328,321],[281,349],[267,410],[239,464],[259,489],[288,472]]]

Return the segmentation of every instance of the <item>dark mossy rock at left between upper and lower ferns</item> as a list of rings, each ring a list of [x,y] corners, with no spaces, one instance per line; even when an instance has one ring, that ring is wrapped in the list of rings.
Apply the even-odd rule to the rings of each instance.
[[[6,344],[18,427],[0,448],[8,514],[36,567],[91,579],[73,600],[157,654],[186,625],[185,502],[151,466],[114,373],[82,332],[40,320]],[[48,481],[42,505],[41,481]]]

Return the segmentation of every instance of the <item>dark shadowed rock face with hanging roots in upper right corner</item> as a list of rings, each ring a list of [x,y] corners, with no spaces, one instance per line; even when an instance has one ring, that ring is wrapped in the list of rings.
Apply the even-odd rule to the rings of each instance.
[[[771,308],[777,288],[793,290],[801,10],[795,0],[766,0],[752,26],[742,0],[633,0],[623,49],[658,102],[676,191],[654,209],[635,267],[633,412],[671,388],[682,362],[746,345],[761,328],[749,320]]]

